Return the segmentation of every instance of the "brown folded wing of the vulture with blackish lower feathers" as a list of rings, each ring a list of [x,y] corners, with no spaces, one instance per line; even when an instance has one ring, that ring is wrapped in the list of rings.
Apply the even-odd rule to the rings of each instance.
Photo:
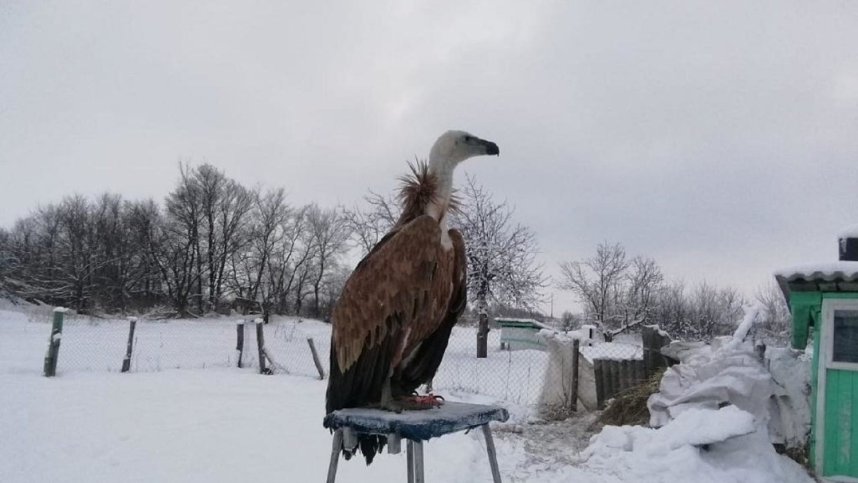
[[[346,282],[331,316],[328,412],[378,401],[408,341],[432,333],[450,301],[451,253],[423,215],[386,236]]]

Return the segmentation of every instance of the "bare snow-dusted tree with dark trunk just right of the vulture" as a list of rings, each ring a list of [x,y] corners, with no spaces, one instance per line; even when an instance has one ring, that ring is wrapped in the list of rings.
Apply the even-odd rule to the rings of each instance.
[[[535,262],[535,233],[514,225],[512,214],[506,202],[495,202],[473,177],[466,177],[462,206],[453,212],[452,225],[465,239],[468,296],[480,317],[479,358],[487,355],[489,303],[532,308],[545,286],[542,267]]]

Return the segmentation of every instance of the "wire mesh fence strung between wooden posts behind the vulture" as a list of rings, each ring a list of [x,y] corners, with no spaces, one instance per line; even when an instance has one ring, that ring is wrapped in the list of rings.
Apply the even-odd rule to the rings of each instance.
[[[197,320],[146,320],[136,322],[130,371],[202,369],[209,367],[259,367],[256,323],[248,319],[202,318]],[[319,377],[329,373],[330,329],[328,323],[298,318],[275,318],[263,325],[264,355],[274,373]],[[122,319],[69,317],[63,329],[59,371],[121,371],[129,338],[130,322]],[[239,332],[241,335],[239,335]],[[477,329],[462,325],[453,329],[443,362],[432,380],[436,394],[474,393],[521,405],[544,399],[547,384],[563,383],[568,371],[552,364],[544,335],[535,335],[523,347],[505,342],[502,329],[489,331],[486,358],[476,357]],[[563,333],[558,332],[558,337]],[[239,340],[243,350],[239,351]],[[313,357],[316,350],[317,359]],[[643,359],[639,336],[621,341],[592,342],[580,347],[583,358]],[[550,388],[548,388],[550,389]],[[550,391],[549,391],[550,392]]]

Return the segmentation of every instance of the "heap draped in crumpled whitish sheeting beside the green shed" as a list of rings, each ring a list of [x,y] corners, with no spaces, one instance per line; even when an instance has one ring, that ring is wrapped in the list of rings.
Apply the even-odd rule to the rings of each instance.
[[[734,405],[767,428],[771,443],[801,447],[807,441],[810,406],[807,360],[792,351],[772,350],[761,361],[746,336],[758,309],[749,310],[733,338],[721,347],[668,348],[680,359],[665,371],[659,392],[650,395],[650,426],[668,425],[686,411]],[[673,346],[673,345],[672,345]]]

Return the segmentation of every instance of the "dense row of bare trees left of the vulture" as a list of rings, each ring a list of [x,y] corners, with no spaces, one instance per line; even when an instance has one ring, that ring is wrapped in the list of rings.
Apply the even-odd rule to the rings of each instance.
[[[188,317],[238,302],[323,317],[348,235],[336,208],[294,207],[282,189],[181,166],[160,205],[67,196],[0,230],[0,275],[7,292],[83,312],[169,305]]]

